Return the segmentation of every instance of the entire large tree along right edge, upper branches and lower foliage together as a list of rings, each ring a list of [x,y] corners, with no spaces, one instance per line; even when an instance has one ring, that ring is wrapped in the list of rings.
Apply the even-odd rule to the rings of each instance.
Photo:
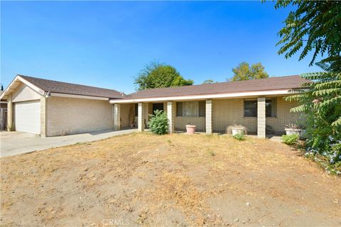
[[[341,2],[340,1],[278,1],[276,9],[296,6],[279,31],[279,54],[291,57],[301,52],[299,60],[313,52],[310,65],[317,57],[326,72],[303,74],[311,82],[308,88],[295,90],[289,101],[299,101],[301,106],[291,109],[305,113],[307,117],[306,149],[328,157],[335,169],[341,172]]]

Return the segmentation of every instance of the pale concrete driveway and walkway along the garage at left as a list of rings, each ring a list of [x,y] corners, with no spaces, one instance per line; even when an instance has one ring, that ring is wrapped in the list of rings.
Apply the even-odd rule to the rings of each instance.
[[[45,150],[48,148],[58,148],[75,143],[85,143],[94,140],[102,140],[115,135],[123,135],[134,132],[137,132],[137,129],[127,129],[122,131],[98,131],[76,135],[41,138],[40,136],[31,133],[1,131],[0,157],[30,153],[36,150]]]

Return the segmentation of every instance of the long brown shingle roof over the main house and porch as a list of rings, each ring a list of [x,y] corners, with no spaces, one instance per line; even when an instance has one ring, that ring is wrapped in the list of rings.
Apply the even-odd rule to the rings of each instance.
[[[266,79],[251,79],[236,82],[222,82],[215,84],[200,84],[183,87],[167,87],[160,89],[146,89],[125,96],[125,99],[144,99],[168,96],[187,96],[200,94],[227,94],[235,92],[256,92],[266,90],[294,89],[309,82],[307,79],[295,76],[271,77]]]

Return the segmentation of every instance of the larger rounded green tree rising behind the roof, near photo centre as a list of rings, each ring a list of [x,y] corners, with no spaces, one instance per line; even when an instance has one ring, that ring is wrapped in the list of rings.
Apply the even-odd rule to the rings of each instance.
[[[184,79],[171,65],[164,65],[154,61],[139,72],[134,84],[137,85],[138,90],[143,90],[192,85],[193,80]]]

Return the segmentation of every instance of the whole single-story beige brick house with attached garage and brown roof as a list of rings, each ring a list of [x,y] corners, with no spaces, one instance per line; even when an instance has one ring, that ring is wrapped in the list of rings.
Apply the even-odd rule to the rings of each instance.
[[[111,89],[17,75],[1,95],[8,102],[8,128],[41,136],[148,126],[148,114],[167,112],[169,133],[193,124],[207,134],[245,126],[265,138],[266,128],[284,133],[296,123],[298,104],[285,101],[291,89],[308,82],[300,76],[271,77],[122,94]]]

